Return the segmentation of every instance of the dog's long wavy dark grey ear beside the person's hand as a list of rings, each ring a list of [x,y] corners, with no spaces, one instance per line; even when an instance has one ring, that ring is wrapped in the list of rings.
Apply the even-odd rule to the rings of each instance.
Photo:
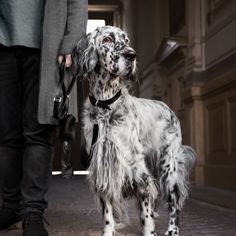
[[[72,58],[76,78],[86,78],[98,62],[98,54],[91,33],[80,39],[72,51]]]

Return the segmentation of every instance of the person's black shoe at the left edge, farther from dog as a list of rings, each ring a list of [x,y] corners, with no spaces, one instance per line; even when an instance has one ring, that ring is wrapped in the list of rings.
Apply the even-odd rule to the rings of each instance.
[[[0,230],[8,229],[20,220],[21,219],[15,209],[4,207],[0,210]]]

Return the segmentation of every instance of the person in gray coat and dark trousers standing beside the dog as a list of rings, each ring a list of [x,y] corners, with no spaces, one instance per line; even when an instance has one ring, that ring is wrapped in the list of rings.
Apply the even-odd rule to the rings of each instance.
[[[22,219],[24,236],[46,236],[58,63],[86,33],[87,0],[1,0],[0,230]],[[70,70],[70,68],[68,69]],[[76,114],[76,88],[70,97]],[[20,218],[19,218],[20,215]]]

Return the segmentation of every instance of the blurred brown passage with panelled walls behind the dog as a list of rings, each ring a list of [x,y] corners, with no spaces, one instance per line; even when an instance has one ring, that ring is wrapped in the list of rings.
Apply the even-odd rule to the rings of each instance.
[[[192,182],[236,190],[236,1],[89,0],[88,32],[115,25],[138,55],[138,97],[166,102],[197,162]],[[79,82],[80,112],[86,84]],[[74,170],[85,170],[81,124]],[[54,171],[60,171],[57,145]],[[56,173],[56,172],[55,172]]]

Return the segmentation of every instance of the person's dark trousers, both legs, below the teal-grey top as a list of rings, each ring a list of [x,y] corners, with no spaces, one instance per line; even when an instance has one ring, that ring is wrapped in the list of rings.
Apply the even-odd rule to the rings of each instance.
[[[0,191],[3,207],[43,211],[53,127],[38,123],[40,50],[0,45]]]

